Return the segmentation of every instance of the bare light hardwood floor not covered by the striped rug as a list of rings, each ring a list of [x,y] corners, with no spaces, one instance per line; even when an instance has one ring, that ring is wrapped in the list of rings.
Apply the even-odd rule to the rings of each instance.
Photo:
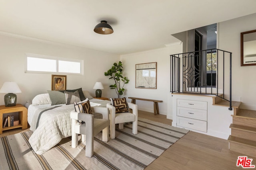
[[[157,121],[160,123],[172,124],[172,120],[166,119],[165,115],[154,115],[146,111],[138,111],[138,116]],[[0,135],[6,136],[29,129],[21,128],[3,131]],[[164,151],[154,162],[145,170],[233,170],[243,169],[237,167],[238,156],[247,156],[228,149],[228,141],[196,132],[188,132],[174,145]],[[256,158],[252,165],[256,165]],[[256,169],[256,168],[252,168]]]

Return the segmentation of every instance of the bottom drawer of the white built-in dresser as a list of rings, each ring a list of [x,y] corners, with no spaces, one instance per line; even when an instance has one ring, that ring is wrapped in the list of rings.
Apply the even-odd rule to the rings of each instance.
[[[177,126],[207,132],[207,121],[177,116]]]

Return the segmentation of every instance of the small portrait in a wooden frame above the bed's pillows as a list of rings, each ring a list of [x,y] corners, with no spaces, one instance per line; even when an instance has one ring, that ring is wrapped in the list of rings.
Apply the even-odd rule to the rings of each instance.
[[[66,90],[67,76],[52,75],[52,90]]]

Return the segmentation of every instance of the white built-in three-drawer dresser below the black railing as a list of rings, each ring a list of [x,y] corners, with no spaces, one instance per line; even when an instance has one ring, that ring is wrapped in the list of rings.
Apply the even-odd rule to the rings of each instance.
[[[177,126],[207,132],[207,102],[177,99]]]

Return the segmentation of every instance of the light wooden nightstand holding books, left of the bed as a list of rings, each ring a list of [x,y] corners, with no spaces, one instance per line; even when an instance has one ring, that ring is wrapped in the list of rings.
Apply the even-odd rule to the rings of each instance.
[[[13,112],[19,112],[19,121],[20,124],[16,126],[10,126],[10,127],[4,127],[3,128],[3,115],[5,113],[13,113]],[[12,107],[5,107],[4,105],[0,106],[0,134],[3,133],[3,131],[9,130],[9,129],[15,129],[21,127],[22,129],[28,129],[28,109],[21,104],[16,104],[16,106]]]

